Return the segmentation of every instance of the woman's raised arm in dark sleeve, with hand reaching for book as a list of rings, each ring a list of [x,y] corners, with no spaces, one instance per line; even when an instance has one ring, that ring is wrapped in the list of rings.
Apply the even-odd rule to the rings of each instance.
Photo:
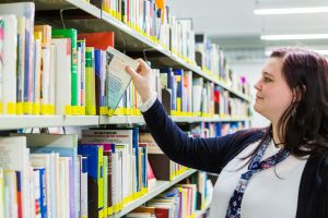
[[[127,68],[143,102],[152,98],[151,69],[144,61],[133,71]],[[161,149],[175,162],[199,170],[219,173],[221,169],[246,145],[249,137],[243,133],[214,138],[191,138],[166,114],[162,104],[154,99],[143,112],[148,129]],[[250,138],[251,141],[253,138]]]

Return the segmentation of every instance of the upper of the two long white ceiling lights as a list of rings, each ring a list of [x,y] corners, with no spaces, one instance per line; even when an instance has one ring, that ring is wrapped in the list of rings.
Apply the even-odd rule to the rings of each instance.
[[[256,10],[254,10],[254,14],[257,14],[257,15],[325,13],[325,12],[328,12],[328,7],[256,9]]]

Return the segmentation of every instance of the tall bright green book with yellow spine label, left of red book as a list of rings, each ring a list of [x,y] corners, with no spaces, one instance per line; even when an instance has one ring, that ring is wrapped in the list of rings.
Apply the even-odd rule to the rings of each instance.
[[[72,83],[72,98],[71,98],[71,106],[72,106],[72,114],[78,113],[78,49],[77,49],[77,41],[78,41],[78,32],[74,28],[55,28],[51,33],[52,38],[70,38],[71,39],[71,53],[72,53],[72,64],[71,64],[71,83]]]

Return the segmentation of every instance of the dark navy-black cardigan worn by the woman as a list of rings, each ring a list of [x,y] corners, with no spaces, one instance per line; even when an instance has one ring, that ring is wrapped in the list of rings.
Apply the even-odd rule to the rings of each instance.
[[[214,173],[220,173],[230,160],[263,135],[262,130],[248,130],[222,137],[188,137],[171,120],[157,99],[143,117],[155,142],[172,160]],[[298,191],[296,218],[328,218],[327,156],[312,155],[305,165]]]

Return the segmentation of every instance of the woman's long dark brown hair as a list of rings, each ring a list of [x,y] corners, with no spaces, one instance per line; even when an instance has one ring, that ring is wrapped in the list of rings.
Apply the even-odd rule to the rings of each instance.
[[[276,49],[270,58],[282,59],[282,75],[295,94],[295,99],[279,119],[277,126],[279,140],[296,157],[327,154],[327,59],[315,51],[303,48]],[[246,158],[254,156],[261,145],[271,138],[272,125],[266,129],[259,145]]]

